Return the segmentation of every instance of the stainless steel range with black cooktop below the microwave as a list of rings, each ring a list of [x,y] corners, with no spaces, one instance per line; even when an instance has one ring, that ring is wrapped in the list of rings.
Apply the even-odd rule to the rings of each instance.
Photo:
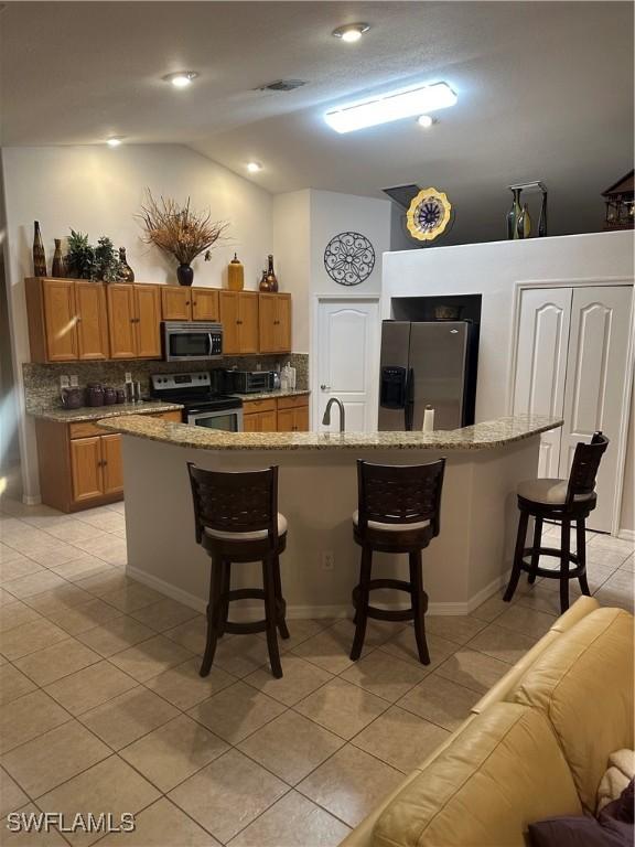
[[[155,399],[183,404],[184,424],[243,431],[243,400],[215,392],[209,373],[152,374],[150,394]]]

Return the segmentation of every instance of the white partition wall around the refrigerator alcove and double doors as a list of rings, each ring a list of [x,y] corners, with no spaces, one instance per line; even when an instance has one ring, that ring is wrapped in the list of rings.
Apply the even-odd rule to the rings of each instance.
[[[483,296],[476,389],[476,420],[483,421],[506,415],[508,410],[516,282],[633,279],[633,233],[629,232],[389,253],[384,257],[381,315],[391,317],[392,297]],[[627,454],[633,455],[632,443]],[[631,492],[633,467],[627,467],[625,472],[625,490]],[[632,527],[623,523],[622,528]]]

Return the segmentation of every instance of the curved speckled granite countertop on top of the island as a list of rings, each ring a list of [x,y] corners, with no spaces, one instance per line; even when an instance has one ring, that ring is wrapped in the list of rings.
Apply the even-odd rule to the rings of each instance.
[[[200,450],[491,450],[562,426],[561,418],[517,415],[434,432],[220,432],[131,416],[104,429]]]

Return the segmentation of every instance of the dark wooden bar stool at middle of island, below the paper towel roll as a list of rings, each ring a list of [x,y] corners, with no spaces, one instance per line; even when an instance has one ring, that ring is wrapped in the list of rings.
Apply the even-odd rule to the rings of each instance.
[[[353,535],[362,547],[359,583],[353,589],[355,639],[353,661],[362,655],[368,618],[379,621],[413,621],[417,651],[430,664],[423,618],[428,594],[423,591],[421,550],[439,535],[440,504],[445,459],[419,465],[383,465],[357,461],[358,507],[353,514]],[[370,579],[373,553],[407,553],[410,581]],[[378,609],[369,604],[370,591],[394,588],[407,591],[411,607]]]

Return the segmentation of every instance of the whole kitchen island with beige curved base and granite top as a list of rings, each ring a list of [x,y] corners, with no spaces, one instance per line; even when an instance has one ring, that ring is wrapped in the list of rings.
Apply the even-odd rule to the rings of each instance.
[[[516,485],[536,475],[540,433],[561,425],[518,416],[434,432],[233,433],[130,416],[98,426],[123,437],[129,575],[202,611],[209,559],[194,539],[186,462],[220,471],[279,465],[279,507],[289,522],[282,585],[293,619],[351,611],[359,559],[351,517],[356,459],[417,464],[446,457],[441,534],[423,551],[430,611],[465,614],[482,603],[512,564]],[[406,559],[377,554],[374,576],[405,578]],[[236,587],[259,585],[257,564],[233,571]],[[376,594],[374,602],[402,601]]]

